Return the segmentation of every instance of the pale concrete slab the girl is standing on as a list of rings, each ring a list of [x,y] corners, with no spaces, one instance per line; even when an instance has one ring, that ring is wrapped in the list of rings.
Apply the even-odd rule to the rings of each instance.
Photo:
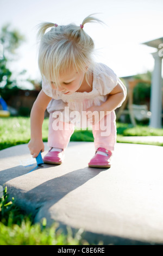
[[[1,150],[0,185],[35,222],[83,228],[89,242],[163,244],[162,147],[117,143],[110,169],[87,167],[94,153],[92,142],[70,142],[60,166],[24,167],[27,144]]]

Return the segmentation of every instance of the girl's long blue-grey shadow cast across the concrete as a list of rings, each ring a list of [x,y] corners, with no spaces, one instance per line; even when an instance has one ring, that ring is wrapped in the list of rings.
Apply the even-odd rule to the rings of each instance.
[[[28,175],[30,170],[34,167],[36,167],[36,164],[29,167],[16,166],[2,170],[0,172],[0,185],[4,185],[7,181],[19,176]],[[44,164],[43,166],[37,166],[36,169],[38,170],[43,167],[45,167],[45,172],[47,172],[47,168],[55,168],[57,166]],[[89,167],[73,170],[73,172],[68,172],[57,178],[47,180],[28,192],[24,192],[18,187],[7,184],[8,193],[9,196],[15,197],[16,203],[23,210],[36,215],[35,220],[40,221],[41,218],[46,215],[47,223],[52,224],[54,220],[51,220],[48,211],[49,208],[65,197],[66,194],[76,190],[76,188],[82,186],[85,182],[93,179],[96,175],[105,170],[107,169]]]

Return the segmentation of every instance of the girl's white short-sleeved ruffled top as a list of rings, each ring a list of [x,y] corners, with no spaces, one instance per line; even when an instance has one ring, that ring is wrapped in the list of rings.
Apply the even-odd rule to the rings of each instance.
[[[98,72],[93,72],[91,92],[74,92],[71,95],[64,95],[58,90],[53,89],[49,83],[42,81],[43,92],[52,97],[51,102],[47,106],[47,111],[51,113],[62,111],[65,107],[69,107],[70,111],[82,113],[82,111],[86,111],[87,108],[93,105],[100,106],[106,101],[107,95],[115,88],[117,83],[121,84],[124,92],[126,92],[126,87],[114,71],[102,63],[98,63],[98,67],[102,69],[98,69]],[[117,107],[120,107],[125,100],[126,94],[124,95],[124,99]]]

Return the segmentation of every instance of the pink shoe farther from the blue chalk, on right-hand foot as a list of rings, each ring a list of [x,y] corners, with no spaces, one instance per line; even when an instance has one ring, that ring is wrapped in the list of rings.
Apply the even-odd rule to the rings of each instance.
[[[107,156],[103,155],[103,153],[106,153]],[[110,168],[111,155],[112,155],[112,153],[110,150],[106,150],[104,148],[98,148],[96,150],[95,156],[93,156],[91,161],[89,162],[89,167]]]

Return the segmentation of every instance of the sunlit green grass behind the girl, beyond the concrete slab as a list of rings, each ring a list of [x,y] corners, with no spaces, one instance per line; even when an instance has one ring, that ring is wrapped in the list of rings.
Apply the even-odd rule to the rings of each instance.
[[[163,136],[163,129],[153,129],[144,125],[133,127],[130,124],[117,123],[117,142],[124,142],[123,136]],[[42,125],[42,139],[47,142],[48,118],[45,118]],[[18,144],[28,143],[30,140],[30,118],[9,117],[0,118],[0,150]],[[91,130],[75,130],[71,141],[93,142]],[[127,141],[125,141],[127,142]],[[131,143],[131,142],[130,142]],[[145,143],[142,143],[145,144]],[[153,143],[151,143],[153,144]],[[154,143],[162,145],[161,143]]]

